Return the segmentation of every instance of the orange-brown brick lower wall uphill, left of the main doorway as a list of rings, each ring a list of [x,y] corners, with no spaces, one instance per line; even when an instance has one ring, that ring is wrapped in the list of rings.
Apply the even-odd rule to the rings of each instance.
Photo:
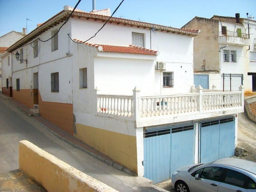
[[[19,101],[29,108],[34,108],[33,93],[31,93],[30,89],[20,89],[20,91],[13,90],[12,99]]]

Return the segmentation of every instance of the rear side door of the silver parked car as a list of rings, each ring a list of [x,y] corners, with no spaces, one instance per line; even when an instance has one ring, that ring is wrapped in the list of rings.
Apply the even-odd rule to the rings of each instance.
[[[247,180],[246,173],[227,168],[218,192],[247,192]]]

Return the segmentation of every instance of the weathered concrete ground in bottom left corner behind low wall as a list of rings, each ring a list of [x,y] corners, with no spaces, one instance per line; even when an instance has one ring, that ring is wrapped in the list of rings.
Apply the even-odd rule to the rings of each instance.
[[[19,169],[0,173],[0,191],[46,192]]]

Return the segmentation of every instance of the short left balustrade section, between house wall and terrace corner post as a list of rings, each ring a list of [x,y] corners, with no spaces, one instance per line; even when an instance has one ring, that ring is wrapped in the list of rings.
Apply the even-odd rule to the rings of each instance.
[[[133,97],[125,95],[97,95],[97,112],[132,117]]]

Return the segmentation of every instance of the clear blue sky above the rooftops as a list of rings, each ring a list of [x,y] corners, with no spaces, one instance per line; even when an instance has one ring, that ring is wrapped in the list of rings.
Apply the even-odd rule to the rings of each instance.
[[[28,20],[28,32],[56,13],[64,5],[74,7],[78,0],[0,0],[0,36],[14,30],[22,32]],[[96,0],[96,9],[110,8],[111,13],[121,0]],[[92,0],[82,0],[77,7],[92,11]],[[141,20],[180,28],[195,16],[211,18],[213,15],[232,16],[246,12],[256,20],[256,0],[124,0],[114,17]]]

